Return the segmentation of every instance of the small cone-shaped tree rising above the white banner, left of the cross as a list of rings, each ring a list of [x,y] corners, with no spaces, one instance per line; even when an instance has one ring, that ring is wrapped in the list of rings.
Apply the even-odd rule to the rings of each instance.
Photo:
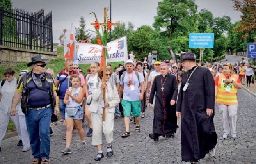
[[[83,40],[84,38],[89,39],[91,37],[91,33],[89,29],[86,29],[86,21],[84,17],[80,17],[79,27],[75,28],[75,35],[78,37],[78,40]]]

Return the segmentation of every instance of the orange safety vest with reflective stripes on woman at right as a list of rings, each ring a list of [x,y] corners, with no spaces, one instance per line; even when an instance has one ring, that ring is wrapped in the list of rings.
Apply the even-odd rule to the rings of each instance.
[[[235,82],[238,80],[238,75],[232,74],[229,79],[233,79]],[[218,81],[218,93],[217,93],[217,103],[224,105],[236,105],[238,103],[237,99],[237,88],[233,83],[226,84],[224,81],[226,76],[224,74],[219,75]],[[226,87],[229,85],[230,92],[226,91]]]

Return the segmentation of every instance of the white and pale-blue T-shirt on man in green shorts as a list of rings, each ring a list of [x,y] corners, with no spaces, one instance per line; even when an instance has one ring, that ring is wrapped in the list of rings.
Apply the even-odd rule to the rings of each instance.
[[[134,86],[133,91],[131,90],[131,87],[128,86],[130,79],[132,79],[133,81],[133,86]],[[144,81],[145,81],[144,76],[141,73],[139,73],[139,79],[138,79],[135,71],[133,71],[133,73],[131,74],[128,74],[126,72],[124,79],[123,79],[123,75],[121,75],[120,85],[123,85],[123,100],[138,101],[140,90],[141,90],[141,86],[139,83]]]

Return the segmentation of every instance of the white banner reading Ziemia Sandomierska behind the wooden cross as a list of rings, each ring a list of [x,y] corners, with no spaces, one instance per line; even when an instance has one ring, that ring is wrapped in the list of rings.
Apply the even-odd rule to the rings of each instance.
[[[97,44],[76,43],[79,64],[101,62],[102,48]],[[121,62],[128,59],[126,37],[107,43],[107,62]]]

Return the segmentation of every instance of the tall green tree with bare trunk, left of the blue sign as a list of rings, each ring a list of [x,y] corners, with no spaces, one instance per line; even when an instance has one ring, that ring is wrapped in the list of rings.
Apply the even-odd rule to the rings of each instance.
[[[175,59],[172,39],[176,30],[182,32],[192,29],[196,21],[197,5],[194,0],[163,0],[158,2],[157,16],[153,26],[163,28],[169,34],[169,53]]]

